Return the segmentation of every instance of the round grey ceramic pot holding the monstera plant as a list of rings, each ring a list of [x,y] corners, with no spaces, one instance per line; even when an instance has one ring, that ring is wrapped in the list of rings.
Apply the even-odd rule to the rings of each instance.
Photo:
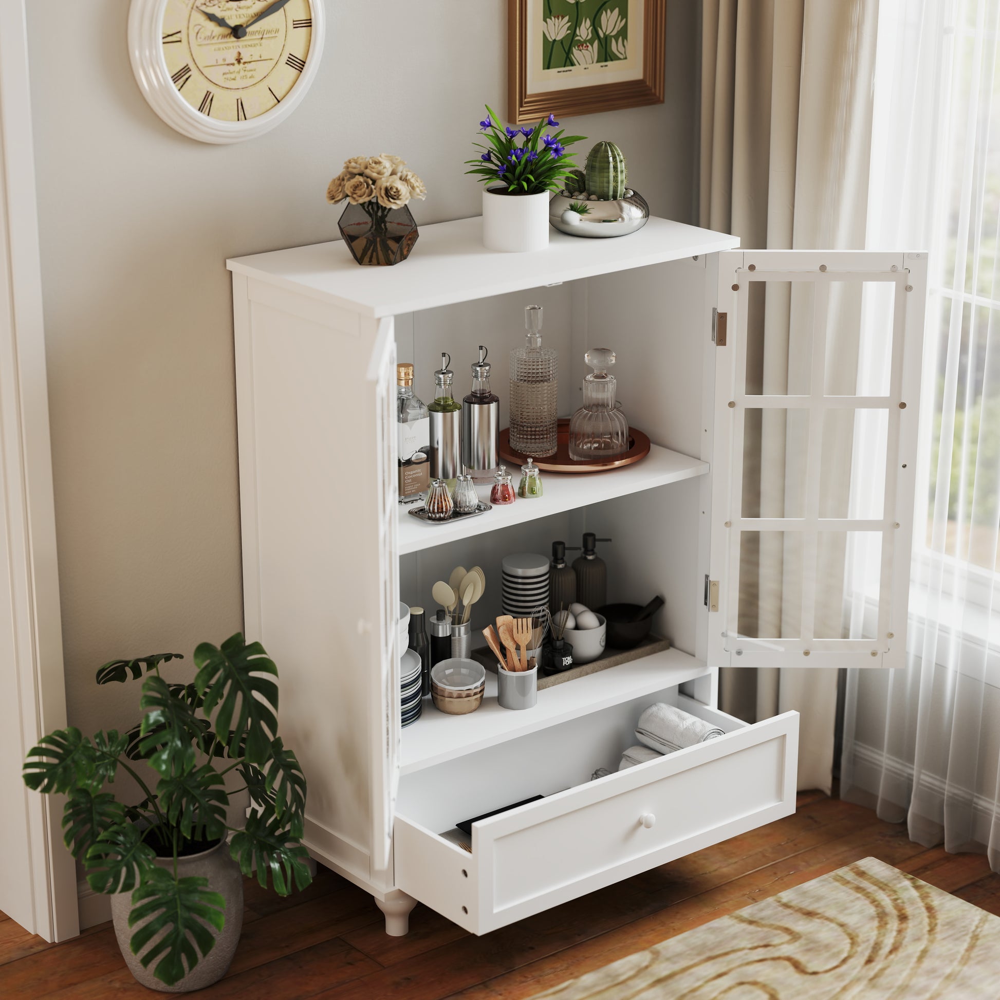
[[[156,864],[161,868],[173,869],[174,862],[173,858],[157,858]],[[173,986],[167,986],[153,975],[155,963],[151,963],[146,969],[138,956],[132,954],[129,941],[145,922],[141,921],[135,927],[128,925],[128,915],[132,911],[132,893],[120,892],[111,897],[115,936],[129,971],[143,986],[162,993],[190,993],[220,980],[229,970],[229,963],[239,944],[240,931],[243,930],[243,877],[240,875],[240,866],[229,855],[229,844],[225,840],[201,854],[178,858],[177,874],[181,878],[192,875],[207,878],[208,888],[219,893],[226,901],[226,923],[222,933],[216,936],[215,947],[194,967],[193,972],[189,972]],[[153,938],[146,950],[152,948],[162,936],[160,934]]]

